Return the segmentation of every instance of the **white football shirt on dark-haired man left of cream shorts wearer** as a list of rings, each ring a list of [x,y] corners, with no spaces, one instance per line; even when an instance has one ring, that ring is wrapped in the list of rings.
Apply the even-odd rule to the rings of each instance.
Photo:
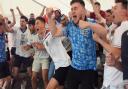
[[[22,32],[20,28],[13,29],[16,42],[16,54],[22,57],[30,57],[31,52],[30,50],[25,51],[22,47],[27,44],[29,38],[31,37],[30,30],[27,29],[25,32]]]

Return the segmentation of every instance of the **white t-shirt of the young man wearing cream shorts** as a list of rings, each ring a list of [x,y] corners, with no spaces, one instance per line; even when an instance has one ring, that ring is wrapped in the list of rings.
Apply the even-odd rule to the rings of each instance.
[[[28,42],[28,44],[32,45],[33,42],[39,42],[39,43],[42,43],[42,45],[43,45],[42,40],[39,39],[39,36],[37,34],[31,36],[30,41]],[[44,58],[49,57],[49,54],[47,53],[46,49],[38,50],[34,47],[34,51],[35,51],[34,59],[36,59],[36,58],[43,58],[44,59]]]

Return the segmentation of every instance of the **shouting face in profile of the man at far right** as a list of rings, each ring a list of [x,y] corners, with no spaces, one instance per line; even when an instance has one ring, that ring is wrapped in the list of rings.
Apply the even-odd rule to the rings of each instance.
[[[123,8],[122,4],[116,3],[116,5],[113,7],[114,23],[115,24],[121,23],[126,13],[127,12]]]

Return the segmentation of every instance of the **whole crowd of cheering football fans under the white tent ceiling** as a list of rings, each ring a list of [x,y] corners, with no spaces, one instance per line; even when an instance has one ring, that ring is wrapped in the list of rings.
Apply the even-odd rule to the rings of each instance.
[[[68,16],[44,7],[29,19],[16,7],[19,27],[13,9],[12,22],[0,15],[0,89],[128,89],[128,0],[90,3],[93,12],[71,0]]]

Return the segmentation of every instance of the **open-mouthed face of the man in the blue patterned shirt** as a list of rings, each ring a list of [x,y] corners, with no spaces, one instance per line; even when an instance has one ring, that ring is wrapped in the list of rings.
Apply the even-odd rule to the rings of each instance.
[[[71,5],[71,16],[75,24],[78,24],[79,20],[82,19],[84,7],[80,3],[73,3]]]

